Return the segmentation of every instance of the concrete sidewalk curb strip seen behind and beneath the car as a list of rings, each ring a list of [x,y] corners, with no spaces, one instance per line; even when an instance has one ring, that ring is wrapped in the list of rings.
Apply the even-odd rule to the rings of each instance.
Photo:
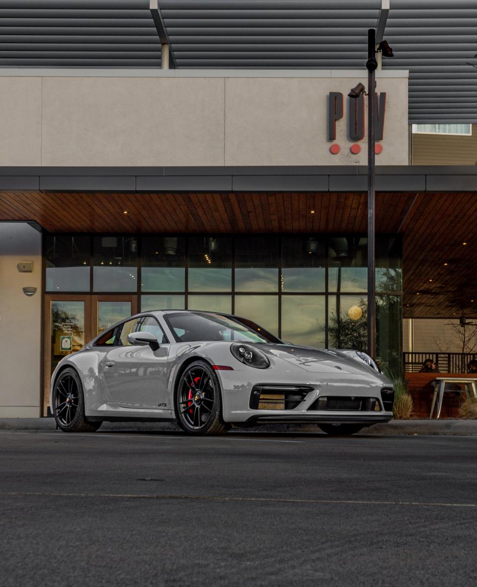
[[[2,418],[0,430],[55,430],[53,418]],[[176,423],[164,422],[104,422],[99,432],[106,431],[174,431],[180,430]],[[315,424],[264,424],[238,431],[273,433],[320,432]],[[388,424],[375,424],[361,430],[360,434],[439,434],[444,436],[477,436],[477,420],[391,420]]]

